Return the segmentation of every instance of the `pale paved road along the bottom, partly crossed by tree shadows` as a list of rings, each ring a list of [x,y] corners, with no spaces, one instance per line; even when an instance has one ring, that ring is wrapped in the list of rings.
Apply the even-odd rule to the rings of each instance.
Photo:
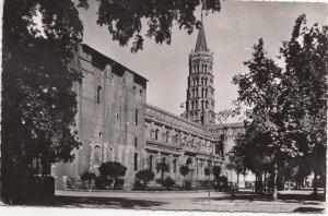
[[[323,212],[324,202],[306,200],[268,201],[254,194],[211,192],[74,192],[56,191],[57,206],[93,208],[143,208],[222,212]]]

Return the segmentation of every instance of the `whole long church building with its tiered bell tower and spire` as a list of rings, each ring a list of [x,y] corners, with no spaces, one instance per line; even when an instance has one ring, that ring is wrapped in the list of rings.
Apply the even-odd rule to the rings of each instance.
[[[220,165],[229,181],[235,181],[234,172],[225,169],[224,156],[244,133],[244,124],[215,123],[213,53],[202,23],[189,53],[186,110],[180,116],[148,104],[145,77],[85,44],[72,64],[83,74],[82,82],[74,84],[79,110],[74,130],[82,145],[73,152],[72,163],[52,166],[57,188],[68,179],[78,182],[84,171],[98,175],[105,161],[127,167],[124,188],[128,190],[139,170],[151,169],[159,179],[160,161],[167,163],[165,176],[178,184],[184,180],[181,165],[190,169],[186,178],[191,185],[208,178],[209,164]]]

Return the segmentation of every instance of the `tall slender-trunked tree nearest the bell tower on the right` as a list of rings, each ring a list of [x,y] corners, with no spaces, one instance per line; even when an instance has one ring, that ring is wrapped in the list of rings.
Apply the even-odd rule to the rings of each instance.
[[[249,141],[265,141],[269,153],[273,156],[273,179],[277,179],[277,163],[279,158],[281,142],[279,142],[279,130],[281,125],[278,105],[279,82],[281,69],[272,59],[267,57],[263,49],[263,40],[259,39],[254,46],[253,59],[245,62],[248,73],[234,76],[233,81],[238,85],[237,101],[249,107],[246,111],[248,123],[251,124]],[[247,132],[247,131],[246,131]],[[249,142],[248,141],[248,142]],[[273,200],[277,199],[277,185],[273,181]]]

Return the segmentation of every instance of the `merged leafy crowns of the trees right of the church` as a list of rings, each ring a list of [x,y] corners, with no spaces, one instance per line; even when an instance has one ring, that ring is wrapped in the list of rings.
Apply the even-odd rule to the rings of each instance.
[[[305,15],[298,16],[291,39],[280,49],[283,67],[267,56],[259,39],[253,58],[245,62],[248,72],[234,76],[237,101],[248,107],[246,133],[234,152],[255,173],[270,170],[277,178],[273,171],[283,172],[295,157],[304,161],[313,158],[307,166],[315,172],[325,167],[327,29],[317,24],[308,28]],[[296,167],[301,170],[303,166],[306,173],[304,165]]]

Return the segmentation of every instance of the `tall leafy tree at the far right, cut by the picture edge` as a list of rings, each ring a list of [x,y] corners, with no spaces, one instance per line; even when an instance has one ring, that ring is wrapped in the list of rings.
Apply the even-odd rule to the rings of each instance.
[[[286,136],[301,156],[312,158],[316,194],[317,176],[326,177],[328,26],[307,27],[305,14],[298,16],[280,52],[286,64],[281,81]]]

